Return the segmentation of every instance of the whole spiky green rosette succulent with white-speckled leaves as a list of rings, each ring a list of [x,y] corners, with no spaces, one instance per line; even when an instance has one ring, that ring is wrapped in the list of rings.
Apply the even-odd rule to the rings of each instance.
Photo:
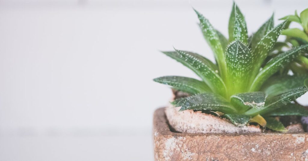
[[[219,112],[237,126],[254,122],[276,131],[286,129],[275,117],[308,115],[308,110],[293,102],[308,91],[308,76],[277,74],[298,59],[308,45],[299,45],[275,57],[269,55],[288,20],[274,26],[272,15],[253,35],[248,36],[245,17],[233,4],[227,39],[201,13],[195,12],[216,63],[193,52],[178,49],[163,52],[201,78],[155,78],[158,83],[190,94],[171,102],[172,105],[180,106],[180,111]]]

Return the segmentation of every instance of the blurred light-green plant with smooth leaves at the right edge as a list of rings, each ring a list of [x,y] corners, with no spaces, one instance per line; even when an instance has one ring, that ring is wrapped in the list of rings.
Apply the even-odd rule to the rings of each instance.
[[[280,20],[288,19],[287,27],[291,22],[299,23],[302,29],[299,28],[286,28],[282,30],[281,34],[286,35],[287,38],[284,42],[276,43],[271,57],[277,56],[283,52],[283,47],[291,48],[300,45],[308,44],[308,8],[303,10],[299,15],[295,11],[294,15],[288,15]],[[269,57],[268,59],[270,59]],[[307,74],[308,73],[308,50],[303,51],[292,63],[290,63],[285,69],[281,70],[281,73],[286,73],[288,70],[292,70],[294,73]]]

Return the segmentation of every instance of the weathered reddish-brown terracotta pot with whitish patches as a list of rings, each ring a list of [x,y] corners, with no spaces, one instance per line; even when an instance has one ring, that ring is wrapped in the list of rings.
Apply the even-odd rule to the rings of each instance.
[[[189,134],[172,132],[164,113],[153,120],[154,155],[163,160],[308,160],[308,134]]]

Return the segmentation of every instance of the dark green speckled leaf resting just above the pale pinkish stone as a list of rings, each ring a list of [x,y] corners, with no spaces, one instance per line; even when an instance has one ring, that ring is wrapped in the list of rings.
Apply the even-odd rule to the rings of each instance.
[[[225,98],[215,93],[200,93],[195,96],[187,97],[178,106],[182,106],[180,111],[186,109],[195,110],[215,110],[223,113],[235,113],[234,107]]]

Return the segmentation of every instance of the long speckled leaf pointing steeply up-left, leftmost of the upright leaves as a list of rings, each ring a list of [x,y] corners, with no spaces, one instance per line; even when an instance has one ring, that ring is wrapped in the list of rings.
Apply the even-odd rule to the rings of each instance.
[[[217,61],[219,73],[223,79],[226,76],[226,64],[225,64],[225,56],[224,56],[224,49],[220,42],[219,35],[214,27],[209,23],[208,19],[200,14],[197,10],[195,12],[198,15],[200,20],[200,28],[202,30],[203,36],[209,46],[211,47],[212,51],[214,52],[215,60]]]

